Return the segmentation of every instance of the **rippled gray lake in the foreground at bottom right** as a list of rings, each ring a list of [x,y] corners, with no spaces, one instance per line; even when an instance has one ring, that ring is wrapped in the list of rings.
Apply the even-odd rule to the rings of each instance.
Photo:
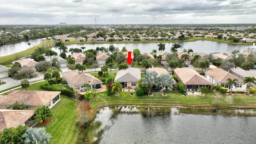
[[[168,109],[168,108],[167,108]],[[108,127],[100,143],[255,143],[256,117],[179,114],[171,108],[165,115],[130,113],[122,107],[115,118],[105,107],[95,121]]]

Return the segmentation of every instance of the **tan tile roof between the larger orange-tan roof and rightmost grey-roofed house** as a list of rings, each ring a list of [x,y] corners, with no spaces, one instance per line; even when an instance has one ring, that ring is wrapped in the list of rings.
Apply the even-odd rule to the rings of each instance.
[[[211,76],[219,83],[227,83],[228,78],[231,78],[231,79],[236,78],[238,80],[237,83],[243,83],[243,79],[238,78],[238,77],[228,73],[228,71],[225,71],[221,68],[210,69],[210,70],[206,71],[205,74]]]

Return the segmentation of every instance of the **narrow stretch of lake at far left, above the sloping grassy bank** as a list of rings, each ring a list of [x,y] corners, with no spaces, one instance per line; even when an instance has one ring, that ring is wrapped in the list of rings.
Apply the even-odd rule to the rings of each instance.
[[[13,53],[17,53],[17,52],[20,52],[20,51],[27,50],[30,47],[38,45],[44,39],[45,38],[31,39],[29,41],[24,41],[24,42],[0,45],[0,57],[4,56],[4,55],[9,55],[9,54],[13,54]],[[28,42],[31,43],[30,47],[28,45]]]

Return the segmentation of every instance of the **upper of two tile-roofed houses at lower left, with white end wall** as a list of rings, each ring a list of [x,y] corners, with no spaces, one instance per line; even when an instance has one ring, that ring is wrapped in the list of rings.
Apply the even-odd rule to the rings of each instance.
[[[59,91],[10,91],[7,95],[0,95],[0,109],[7,109],[15,101],[23,102],[28,109],[48,106],[52,108],[60,101]]]

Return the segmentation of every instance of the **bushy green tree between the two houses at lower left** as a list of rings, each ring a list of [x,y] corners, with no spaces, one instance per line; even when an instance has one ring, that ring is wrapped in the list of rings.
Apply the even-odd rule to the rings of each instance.
[[[39,123],[43,123],[52,117],[52,110],[47,106],[39,107],[35,110],[35,119]]]

